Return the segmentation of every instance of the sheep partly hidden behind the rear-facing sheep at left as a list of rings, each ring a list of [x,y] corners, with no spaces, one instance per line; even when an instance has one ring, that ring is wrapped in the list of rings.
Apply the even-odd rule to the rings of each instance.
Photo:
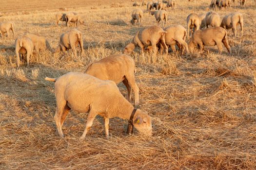
[[[30,33],[26,33],[26,34],[24,34],[24,36],[26,36],[32,40],[33,49],[35,49],[37,51],[37,53],[39,53],[39,50],[45,51],[46,49],[52,51],[52,48],[51,48],[48,40],[45,37],[39,36],[36,34],[30,34]]]

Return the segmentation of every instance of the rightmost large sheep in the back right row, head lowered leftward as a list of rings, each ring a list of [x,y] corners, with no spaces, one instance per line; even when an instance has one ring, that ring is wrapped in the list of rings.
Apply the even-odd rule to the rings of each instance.
[[[240,24],[241,36],[243,36],[243,15],[239,12],[229,14],[223,17],[220,26],[224,29],[231,29],[236,37],[236,26]]]

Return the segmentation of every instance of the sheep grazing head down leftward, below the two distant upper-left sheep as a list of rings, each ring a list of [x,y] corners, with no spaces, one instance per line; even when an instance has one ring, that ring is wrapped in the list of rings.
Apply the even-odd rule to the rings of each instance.
[[[57,47],[55,52],[66,51],[68,49],[72,49],[77,56],[76,47],[80,45],[81,52],[83,53],[83,40],[82,33],[77,29],[72,29],[64,34],[60,35],[59,38],[59,46]]]

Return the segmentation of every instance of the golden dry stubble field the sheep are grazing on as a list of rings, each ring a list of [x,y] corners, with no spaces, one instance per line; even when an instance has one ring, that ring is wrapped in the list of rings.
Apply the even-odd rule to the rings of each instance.
[[[28,68],[16,68],[16,36],[0,39],[0,169],[256,169],[253,0],[248,0],[244,8],[236,2],[231,9],[218,11],[220,16],[233,11],[244,14],[244,36],[229,38],[232,56],[226,49],[219,55],[216,47],[206,48],[203,54],[182,56],[142,56],[139,50],[132,54],[137,66],[140,108],[153,118],[152,137],[137,133],[125,136],[127,120],[111,119],[111,138],[106,139],[102,118],[97,117],[86,139],[80,141],[87,114],[71,111],[63,125],[65,138],[60,138],[53,119],[54,85],[44,77],[83,71],[91,61],[120,53],[140,29],[129,24],[135,9],[131,1],[84,1],[76,0],[69,6],[62,3],[66,0],[44,0],[42,8],[38,8],[34,3],[39,1],[34,0],[24,3],[21,11],[20,0],[8,0],[1,6],[4,15],[0,21],[15,22],[16,36],[25,32],[41,34],[54,48],[59,35],[69,30],[64,23],[58,28],[54,25],[59,8],[75,7],[86,25],[79,26],[84,34],[84,55],[45,51],[34,55]],[[187,15],[205,12],[209,3],[210,0],[180,2],[175,11],[168,10],[168,25],[186,26]],[[154,17],[145,13],[141,27],[152,24]],[[228,33],[232,35],[231,30]],[[119,87],[125,95],[124,86]]]

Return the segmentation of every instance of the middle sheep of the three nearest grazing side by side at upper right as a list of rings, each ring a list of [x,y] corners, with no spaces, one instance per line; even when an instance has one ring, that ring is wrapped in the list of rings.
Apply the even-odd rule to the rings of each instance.
[[[180,50],[183,49],[181,47],[184,47],[187,53],[189,53],[188,44],[185,41],[187,31],[183,26],[181,25],[170,26],[168,28],[165,28],[164,31],[167,32],[164,34],[164,36],[165,36],[165,43],[168,48],[169,46],[171,46],[172,51],[175,52],[176,51],[175,45],[177,45]],[[161,46],[161,53],[162,53],[162,49],[163,48]],[[181,50],[181,53],[183,53],[183,51],[184,50]]]

